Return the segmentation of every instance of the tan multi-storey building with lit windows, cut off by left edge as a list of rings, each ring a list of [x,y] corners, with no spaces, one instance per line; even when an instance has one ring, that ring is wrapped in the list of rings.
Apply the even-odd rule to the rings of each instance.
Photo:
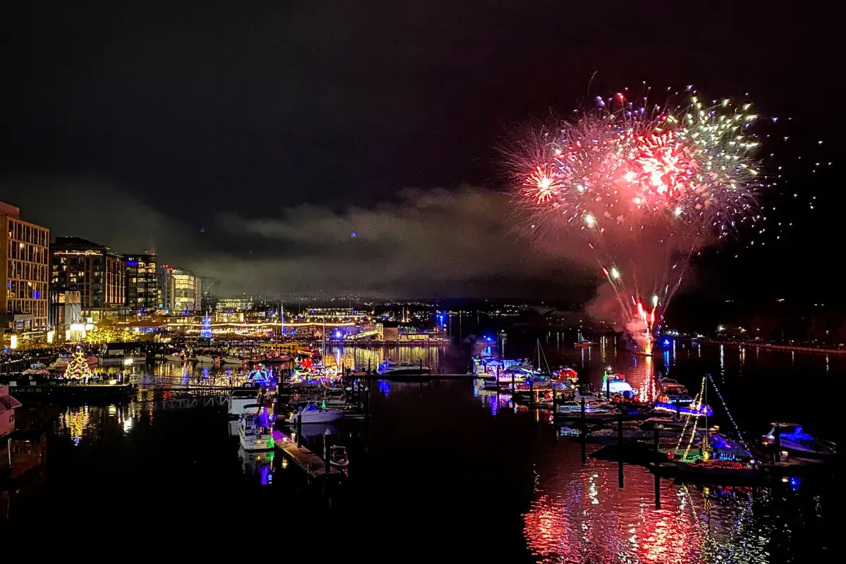
[[[0,327],[3,347],[47,338],[50,230],[0,202]]]

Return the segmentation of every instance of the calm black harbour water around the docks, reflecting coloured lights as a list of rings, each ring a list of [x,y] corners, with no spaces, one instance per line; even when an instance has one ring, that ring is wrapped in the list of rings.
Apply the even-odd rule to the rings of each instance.
[[[541,339],[551,364],[570,364],[595,383],[610,364],[643,393],[651,393],[658,372],[693,392],[711,374],[748,437],[778,418],[838,438],[836,410],[821,408],[821,397],[846,375],[846,358],[676,343],[666,355],[633,359],[613,345],[582,351],[572,348],[572,337]],[[530,356],[536,347],[525,339],[507,348],[508,356]],[[357,349],[339,356],[361,364],[384,354]],[[448,350],[387,355],[422,356],[449,371],[467,363]],[[662,479],[656,510],[645,468],[626,466],[619,489],[616,464],[589,459],[582,466],[578,443],[553,441],[552,429],[536,420],[542,418],[514,408],[507,397],[497,404],[474,381],[382,382],[371,397],[369,424],[330,428],[352,462],[349,478],[328,492],[307,485],[293,465],[283,468],[281,457],[239,455],[222,410],[166,411],[140,401],[31,409],[31,416],[52,422],[46,462],[19,490],[0,497],[0,517],[9,528],[27,529],[52,516],[91,528],[199,535],[206,548],[212,531],[278,534],[316,555],[344,550],[378,561],[833,558],[832,480],[728,489]],[[730,428],[713,388],[709,402],[717,422]],[[307,432],[315,450],[325,429]]]

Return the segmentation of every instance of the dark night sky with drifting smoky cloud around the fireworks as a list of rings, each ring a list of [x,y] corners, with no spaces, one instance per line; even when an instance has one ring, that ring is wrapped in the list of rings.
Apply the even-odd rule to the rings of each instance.
[[[583,296],[595,269],[522,238],[497,194],[505,128],[646,80],[749,92],[818,151],[842,31],[813,4],[32,0],[3,32],[0,199],[231,293]],[[825,260],[843,195],[797,178],[821,215],[712,257],[709,287],[808,291],[777,274]]]

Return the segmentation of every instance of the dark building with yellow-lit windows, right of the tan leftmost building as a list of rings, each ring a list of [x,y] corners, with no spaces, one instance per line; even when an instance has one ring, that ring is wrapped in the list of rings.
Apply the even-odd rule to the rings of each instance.
[[[125,312],[124,259],[112,249],[79,237],[50,245],[52,288],[80,293],[83,315],[97,321]]]

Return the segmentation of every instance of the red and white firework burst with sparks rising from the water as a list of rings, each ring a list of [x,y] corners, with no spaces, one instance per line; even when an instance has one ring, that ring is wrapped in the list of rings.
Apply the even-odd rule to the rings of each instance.
[[[585,239],[610,282],[624,325],[651,333],[691,255],[755,222],[766,187],[750,105],[706,107],[596,98],[574,120],[519,135],[505,151],[532,227]],[[659,309],[660,308],[660,309]]]

